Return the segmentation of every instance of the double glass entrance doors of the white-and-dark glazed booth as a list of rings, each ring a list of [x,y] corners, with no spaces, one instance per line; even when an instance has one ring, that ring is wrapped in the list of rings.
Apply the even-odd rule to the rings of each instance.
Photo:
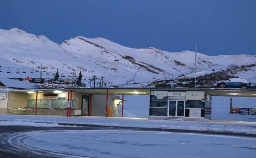
[[[173,101],[168,103],[168,116],[184,117],[185,101]]]

